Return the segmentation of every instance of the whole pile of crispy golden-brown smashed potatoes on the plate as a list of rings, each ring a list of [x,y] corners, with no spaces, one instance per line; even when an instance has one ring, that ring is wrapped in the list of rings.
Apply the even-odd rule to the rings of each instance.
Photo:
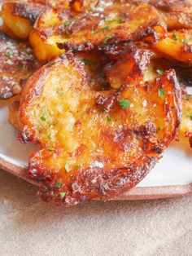
[[[179,135],[192,144],[190,0],[6,1],[0,16],[0,97],[41,146],[43,200],[111,198]]]

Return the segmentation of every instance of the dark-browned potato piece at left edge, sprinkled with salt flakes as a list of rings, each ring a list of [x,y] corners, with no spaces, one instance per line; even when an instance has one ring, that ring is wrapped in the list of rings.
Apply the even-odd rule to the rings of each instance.
[[[0,99],[20,94],[28,77],[40,67],[26,42],[18,42],[0,33]]]

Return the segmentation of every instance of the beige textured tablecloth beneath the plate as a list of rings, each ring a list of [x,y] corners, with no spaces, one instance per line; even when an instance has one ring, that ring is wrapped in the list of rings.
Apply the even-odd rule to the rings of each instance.
[[[192,196],[64,209],[0,170],[0,255],[192,255]]]

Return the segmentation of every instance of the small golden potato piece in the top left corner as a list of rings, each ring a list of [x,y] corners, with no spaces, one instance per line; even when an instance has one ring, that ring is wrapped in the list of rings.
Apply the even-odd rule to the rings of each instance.
[[[42,6],[37,3],[4,2],[0,12],[3,21],[2,31],[12,38],[28,38],[41,10]]]

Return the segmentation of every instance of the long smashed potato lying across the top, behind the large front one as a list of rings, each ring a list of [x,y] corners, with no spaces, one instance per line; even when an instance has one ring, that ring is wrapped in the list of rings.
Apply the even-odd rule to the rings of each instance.
[[[60,14],[53,10],[44,11],[29,36],[37,58],[50,60],[66,49],[106,49],[109,44],[143,38],[156,41],[164,35],[164,22],[155,7],[115,2],[103,9],[99,11],[98,5],[98,10],[80,15],[72,15],[71,11]]]

